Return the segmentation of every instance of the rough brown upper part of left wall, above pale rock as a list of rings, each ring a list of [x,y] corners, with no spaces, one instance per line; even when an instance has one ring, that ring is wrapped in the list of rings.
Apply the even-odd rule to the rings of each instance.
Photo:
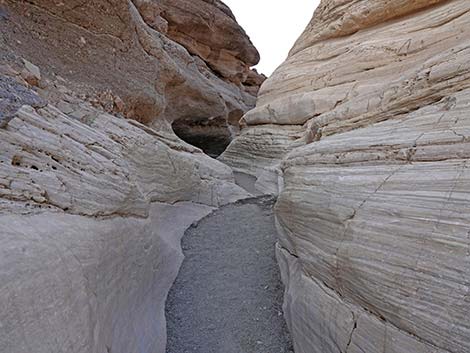
[[[216,118],[236,130],[262,81],[250,71],[258,52],[218,0],[8,0],[3,11],[6,52],[150,126]]]

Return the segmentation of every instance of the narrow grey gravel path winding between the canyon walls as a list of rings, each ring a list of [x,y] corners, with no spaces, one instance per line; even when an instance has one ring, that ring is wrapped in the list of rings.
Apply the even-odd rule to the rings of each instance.
[[[223,207],[190,228],[169,294],[167,353],[289,353],[273,200]]]

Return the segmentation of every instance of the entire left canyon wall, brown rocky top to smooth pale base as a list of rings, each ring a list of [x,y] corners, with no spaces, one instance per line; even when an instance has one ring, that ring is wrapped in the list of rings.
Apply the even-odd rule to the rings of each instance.
[[[163,353],[184,231],[249,196],[171,126],[236,129],[256,49],[219,1],[2,1],[0,32],[0,351]]]

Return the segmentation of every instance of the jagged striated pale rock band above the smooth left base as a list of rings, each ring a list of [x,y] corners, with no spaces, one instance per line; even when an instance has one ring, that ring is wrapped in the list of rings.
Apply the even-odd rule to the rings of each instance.
[[[84,120],[25,106],[0,131],[0,210],[28,202],[32,209],[145,217],[148,201],[219,206],[240,191],[228,167],[182,144],[171,148],[153,130],[97,111]]]

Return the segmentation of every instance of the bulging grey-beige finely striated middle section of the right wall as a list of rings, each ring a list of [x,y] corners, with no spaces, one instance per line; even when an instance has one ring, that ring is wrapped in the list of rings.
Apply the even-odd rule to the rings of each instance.
[[[294,150],[277,206],[305,273],[449,352],[469,349],[469,98]]]

